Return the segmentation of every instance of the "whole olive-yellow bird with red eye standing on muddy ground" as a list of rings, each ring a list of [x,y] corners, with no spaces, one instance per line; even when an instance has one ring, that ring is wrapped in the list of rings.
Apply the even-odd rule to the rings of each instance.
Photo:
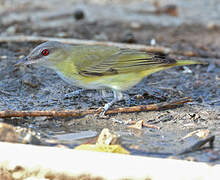
[[[71,46],[48,41],[34,48],[16,65],[39,64],[51,68],[66,82],[85,89],[111,89],[114,98],[105,104],[103,114],[122,99],[122,91],[145,76],[174,66],[200,64],[176,61],[164,55],[107,46]]]

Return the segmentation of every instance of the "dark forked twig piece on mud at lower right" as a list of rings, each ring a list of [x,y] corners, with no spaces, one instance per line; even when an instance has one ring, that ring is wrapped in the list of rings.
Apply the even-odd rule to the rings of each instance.
[[[209,148],[213,148],[213,143],[215,140],[215,136],[210,136],[206,139],[200,140],[193,144],[191,147],[187,148],[183,152],[179,153],[179,155],[187,154],[190,152],[195,152],[202,149],[202,146],[204,146],[206,143],[209,143]]]

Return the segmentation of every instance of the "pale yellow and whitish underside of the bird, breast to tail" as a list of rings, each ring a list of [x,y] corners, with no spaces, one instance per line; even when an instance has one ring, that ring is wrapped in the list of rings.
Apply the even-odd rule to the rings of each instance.
[[[73,63],[69,61],[62,62],[62,64],[58,63],[56,64],[56,68],[53,69],[64,81],[73,86],[85,89],[110,88],[117,91],[124,91],[139,83],[145,76],[169,67],[171,66],[149,68],[140,72],[104,76],[83,76],[77,72]]]

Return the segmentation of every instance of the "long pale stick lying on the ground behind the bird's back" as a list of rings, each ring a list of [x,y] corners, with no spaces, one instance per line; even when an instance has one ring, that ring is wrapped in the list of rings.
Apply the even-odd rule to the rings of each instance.
[[[115,46],[122,49],[136,49],[148,52],[160,52],[170,53],[170,48],[160,46],[146,46],[142,44],[126,44],[126,43],[115,43],[115,42],[104,42],[94,40],[80,40],[70,38],[55,38],[55,37],[43,37],[43,36],[0,36],[0,43],[3,42],[45,42],[45,41],[59,41],[67,44],[84,44],[84,45],[104,45],[104,46]]]

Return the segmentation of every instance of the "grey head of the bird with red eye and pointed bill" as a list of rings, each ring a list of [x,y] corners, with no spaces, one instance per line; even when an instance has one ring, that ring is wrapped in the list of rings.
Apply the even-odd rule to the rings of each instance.
[[[57,41],[47,41],[34,48],[26,57],[20,59],[15,66],[38,64],[51,66],[66,55],[67,45]]]

